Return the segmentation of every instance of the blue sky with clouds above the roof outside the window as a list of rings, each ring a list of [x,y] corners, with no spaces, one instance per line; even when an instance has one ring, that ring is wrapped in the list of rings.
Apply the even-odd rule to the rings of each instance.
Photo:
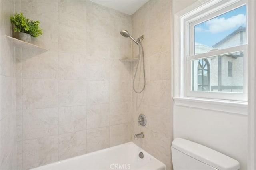
[[[246,6],[195,26],[195,42],[212,47],[240,26],[246,26]]]

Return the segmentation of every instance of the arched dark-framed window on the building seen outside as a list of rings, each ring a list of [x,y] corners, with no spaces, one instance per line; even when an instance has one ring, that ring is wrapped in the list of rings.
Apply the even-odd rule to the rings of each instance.
[[[197,66],[198,91],[210,91],[210,64],[207,59],[200,59]]]

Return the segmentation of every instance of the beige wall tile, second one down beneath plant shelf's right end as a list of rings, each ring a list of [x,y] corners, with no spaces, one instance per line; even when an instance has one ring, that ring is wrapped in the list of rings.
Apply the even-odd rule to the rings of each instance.
[[[47,79],[22,80],[23,109],[58,106],[58,81]]]

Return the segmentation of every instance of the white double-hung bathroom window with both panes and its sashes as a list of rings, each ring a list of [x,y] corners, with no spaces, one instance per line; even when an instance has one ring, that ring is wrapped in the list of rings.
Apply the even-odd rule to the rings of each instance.
[[[246,101],[247,2],[210,3],[183,16],[184,95]]]

